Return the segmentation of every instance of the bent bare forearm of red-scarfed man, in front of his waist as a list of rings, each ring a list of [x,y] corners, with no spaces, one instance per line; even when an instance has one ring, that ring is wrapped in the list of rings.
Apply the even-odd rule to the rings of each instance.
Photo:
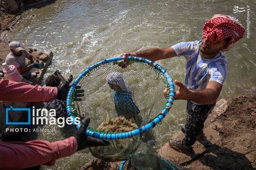
[[[213,104],[217,101],[219,94],[215,89],[190,90],[187,100],[199,104]]]

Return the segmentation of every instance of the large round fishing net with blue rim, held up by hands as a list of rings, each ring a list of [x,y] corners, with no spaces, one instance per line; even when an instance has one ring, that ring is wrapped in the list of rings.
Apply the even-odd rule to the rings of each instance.
[[[74,125],[75,117],[81,121],[89,117],[86,134],[109,140],[109,146],[90,148],[93,156],[105,161],[126,160],[135,153],[143,134],[152,133],[174,101],[174,84],[164,68],[139,57],[128,57],[132,64],[120,68],[121,60],[106,59],[84,70],[66,102]],[[85,91],[82,101],[74,100],[78,85]],[[166,96],[165,88],[169,89]],[[80,124],[75,126],[80,128]]]

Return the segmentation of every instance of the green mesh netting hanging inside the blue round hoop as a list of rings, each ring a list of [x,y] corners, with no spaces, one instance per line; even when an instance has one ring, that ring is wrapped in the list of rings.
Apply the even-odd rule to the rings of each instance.
[[[116,103],[114,93],[118,90],[111,89],[111,85],[106,80],[113,72],[121,74],[131,92],[128,98],[131,98],[133,103],[129,99],[128,103],[117,107],[119,103]],[[134,62],[127,68],[120,68],[118,62],[103,64],[83,76],[77,85],[84,89],[85,95],[81,102],[72,102],[72,112],[74,116],[79,116],[83,120],[89,117],[91,119],[89,129],[94,131],[106,121],[107,115],[110,119],[119,116],[126,119],[133,118],[138,127],[143,126],[154,119],[167,102],[163,95],[163,90],[167,87],[165,76],[153,66],[143,62]],[[127,97],[126,92],[120,93],[121,97]],[[132,107],[128,105],[131,103]],[[141,139],[142,136],[135,136],[118,141],[113,140],[110,141],[109,146],[91,147],[90,151],[93,156],[105,161],[127,160],[129,155],[137,151]]]

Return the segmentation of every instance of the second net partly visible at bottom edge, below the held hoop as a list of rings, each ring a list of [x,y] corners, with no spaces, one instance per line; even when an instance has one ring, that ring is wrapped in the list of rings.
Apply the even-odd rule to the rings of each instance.
[[[130,159],[123,161],[119,170],[179,170],[174,163],[170,163],[161,158],[155,149],[142,142],[135,154]]]

